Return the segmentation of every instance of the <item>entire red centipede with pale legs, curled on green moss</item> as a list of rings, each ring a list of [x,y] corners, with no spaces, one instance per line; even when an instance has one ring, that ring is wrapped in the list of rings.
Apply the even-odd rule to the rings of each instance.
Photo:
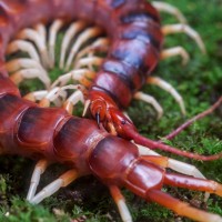
[[[150,73],[153,71],[158,60],[160,59],[160,49],[162,46],[163,37],[160,29],[159,14],[154,8],[151,7],[151,4],[145,1],[90,1],[87,3],[71,0],[65,2],[26,1],[23,4],[21,4],[19,1],[1,1],[1,10],[3,22],[1,28],[2,88],[0,92],[0,101],[2,130],[0,144],[2,154],[19,154],[38,160],[31,180],[32,183],[27,195],[28,201],[31,203],[39,203],[48,195],[53,194],[54,190],[57,191],[61,186],[67,186],[77,178],[87,174],[93,174],[109,188],[111,195],[118,205],[122,221],[132,221],[130,212],[125,205],[124,198],[120,192],[120,188],[122,186],[125,186],[145,200],[155,201],[175,211],[180,215],[188,216],[198,221],[221,221],[219,215],[196,210],[160,191],[160,188],[162,188],[163,184],[170,184],[194,190],[196,189],[210,193],[212,192],[221,195],[221,184],[205,180],[198,169],[186,163],[160,157],[158,153],[145,150],[140,145],[145,145],[151,149],[160,148],[179,155],[185,155],[188,158],[194,158],[198,160],[216,160],[221,158],[221,154],[203,157],[200,154],[180,151],[170,145],[148,140],[147,138],[143,138],[137,133],[133,123],[125,115],[123,115],[118,108],[118,105],[121,108],[129,105],[132,94],[134,94],[135,91],[138,91],[145,82],[144,79],[147,75],[143,77],[141,73]],[[39,13],[34,13],[34,11],[38,11]],[[107,13],[104,14],[103,11],[107,11]],[[79,21],[79,19],[81,19],[81,21]],[[108,21],[110,21],[109,26]],[[93,52],[97,50],[103,51],[107,48],[107,41],[111,41],[108,49],[107,59],[103,61],[103,63],[101,63],[101,60],[97,57],[89,57],[89,59],[85,59],[85,61],[80,61],[79,63],[77,61],[78,65],[81,62],[90,63],[92,61],[92,64],[90,65],[93,65],[98,62],[102,65],[98,73],[94,73],[90,69],[84,69],[79,71],[71,71],[72,73],[68,73],[67,75],[64,74],[58,80],[61,84],[62,81],[67,82],[70,78],[77,77],[79,78],[80,83],[82,83],[84,87],[89,87],[88,91],[85,92],[88,103],[87,109],[91,111],[91,114],[97,119],[97,122],[84,118],[80,119],[72,117],[72,104],[70,105],[70,102],[73,103],[73,100],[68,100],[64,105],[68,112],[59,108],[47,108],[51,99],[56,98],[54,103],[59,104],[61,102],[60,98],[58,98],[58,94],[61,98],[67,97],[65,93],[62,93],[63,89],[73,88],[80,90],[78,91],[79,94],[74,93],[72,98],[82,97],[82,92],[84,92],[84,89],[82,89],[81,85],[57,87],[58,81],[56,81],[56,83],[52,84],[52,88],[50,89],[50,80],[44,70],[47,67],[53,67],[54,46],[49,48],[50,56],[48,56],[44,47],[42,47],[44,46],[44,40],[38,36],[38,33],[46,36],[46,29],[42,24],[51,24],[52,31],[50,34],[53,42],[54,32],[61,29],[62,26],[67,26],[70,22],[73,23],[70,26],[71,29],[68,28],[69,33],[72,32],[73,29],[79,32],[81,29],[89,26],[85,31],[87,33],[80,33],[81,38],[79,39],[80,42],[77,41],[78,44],[81,43],[82,39],[85,41],[84,38],[89,39],[89,36],[91,38],[97,37],[98,34],[103,33],[103,31],[107,31],[108,36],[110,37],[110,40],[104,38],[100,39],[102,44],[99,44],[99,47],[97,46],[98,42],[95,42],[95,47],[89,48],[87,50],[84,49],[87,52]],[[92,22],[99,26],[99,28],[91,27]],[[30,27],[34,26],[34,31],[29,29]],[[102,30],[100,27],[102,27]],[[148,27],[153,29],[153,34],[155,37],[150,37],[148,34]],[[185,29],[190,30],[186,24],[183,24],[182,27],[185,27]],[[118,30],[118,32],[115,30]],[[130,33],[132,33],[132,36]],[[193,32],[191,31],[191,33]],[[14,37],[18,39],[29,39],[34,41],[37,48],[40,50],[40,58],[37,56],[37,53],[34,53],[34,50],[32,50],[30,42],[16,40],[9,43],[10,40]],[[37,41],[38,38],[40,41]],[[149,52],[147,53],[142,49],[145,44],[149,44],[151,48],[153,47],[153,42],[151,44],[148,43],[152,38],[158,38],[159,40],[158,43],[155,42],[158,50],[151,49],[148,50]],[[135,49],[133,50],[127,47],[128,44],[132,43],[132,41],[135,42],[133,44]],[[200,44],[201,50],[204,51],[202,43],[199,40],[196,41]],[[79,50],[78,44],[75,44],[75,48],[73,47],[71,49],[71,52]],[[137,47],[141,47],[141,54],[134,54]],[[36,60],[20,59],[6,63],[4,54],[13,52],[14,48],[26,48],[28,53],[30,53],[30,56],[32,56],[32,58]],[[118,50],[120,51],[115,53]],[[152,58],[152,54],[151,60],[149,60],[149,53],[152,50],[157,50],[157,52],[153,53],[157,53],[157,58]],[[80,52],[83,54],[85,51]],[[78,54],[79,57],[81,56],[80,52]],[[115,58],[114,54],[122,58]],[[63,57],[64,53],[61,58]],[[69,57],[71,59],[68,58],[67,67],[64,67],[65,70],[69,69],[72,57],[73,54]],[[42,61],[42,65],[38,63],[39,60]],[[61,67],[63,65],[62,60],[63,59],[60,60]],[[150,69],[149,62],[151,62]],[[18,65],[23,65],[24,68],[30,68],[29,65],[31,65],[31,69],[24,69],[22,72],[18,71],[9,79],[8,72],[14,70],[17,71]],[[105,70],[105,65],[108,69],[112,70]],[[110,81],[113,81],[112,78],[117,78],[117,75],[113,75],[111,72],[120,71],[120,69],[127,69],[127,71],[132,72],[130,73],[132,78],[131,84],[138,84],[133,87],[133,90],[129,90],[130,88],[128,90],[123,90],[125,92],[124,94],[127,95],[127,102],[121,101],[125,100],[125,97],[119,97],[120,94],[115,97],[111,94],[111,91],[102,88],[102,85],[104,87],[107,84],[105,82],[109,79]],[[123,71],[123,75],[124,72],[127,73],[127,71]],[[92,83],[88,81],[85,73],[87,78],[93,79]],[[109,75],[112,78],[109,78]],[[14,83],[20,83],[23,78],[33,77],[39,78],[44,83],[48,91],[31,93],[22,99]],[[138,81],[139,78],[142,78],[143,80]],[[120,77],[120,82],[117,81],[115,85],[121,85],[121,81],[123,81],[123,79],[124,77]],[[153,79],[150,79],[149,81],[152,80]],[[101,84],[99,83],[100,81],[102,81]],[[129,87],[129,83],[127,85]],[[124,88],[127,85],[124,85]],[[122,89],[119,91],[114,89],[117,88],[113,87],[112,93],[122,92]],[[49,93],[49,91],[52,93]],[[54,95],[54,92],[57,95]],[[174,97],[178,97],[178,94],[175,94]],[[36,104],[32,101],[27,100],[29,99],[36,101],[38,97],[41,98],[40,104]],[[114,98],[120,99],[117,101]],[[115,105],[115,102],[118,105]],[[180,105],[182,112],[184,112],[181,101]],[[85,130],[85,125],[88,125],[88,130]],[[115,135],[119,135],[122,139]],[[130,142],[129,140],[134,140],[138,145]],[[75,143],[75,145],[71,145],[72,143]],[[110,158],[108,161],[110,164],[104,161],[105,157]],[[65,164],[70,168],[70,170],[62,174],[58,180],[46,186],[46,189],[39,193],[36,193],[40,174],[48,168],[48,165],[53,162]],[[119,162],[120,165],[115,168],[115,164],[118,165]],[[123,164],[121,164],[121,162],[123,162]],[[172,165],[175,162],[178,165],[174,168]],[[180,174],[171,174],[165,171],[165,168],[172,168],[173,170],[180,172],[179,168],[182,165],[186,165],[192,170],[194,169],[195,173],[192,174],[194,178],[186,175],[181,176]],[[140,170],[141,173],[139,172]],[[152,182],[143,180],[143,173],[144,175],[148,175],[148,178],[151,176],[149,171],[155,172],[155,176],[153,176]],[[182,173],[189,174],[190,172],[182,171]],[[139,182],[133,178],[138,178]],[[130,180],[133,180],[133,182]],[[135,183],[139,183],[138,188]],[[144,191],[141,190],[143,186]],[[163,201],[164,199],[171,201],[173,204],[167,204],[165,202],[168,201]],[[174,208],[179,204],[182,205],[182,211]]]

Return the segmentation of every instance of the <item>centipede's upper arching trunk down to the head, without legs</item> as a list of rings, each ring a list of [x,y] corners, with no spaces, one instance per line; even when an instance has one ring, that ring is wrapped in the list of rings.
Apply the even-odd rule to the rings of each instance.
[[[145,0],[90,0],[87,3],[80,0],[27,0],[22,4],[20,1],[1,1],[0,4],[2,60],[9,39],[18,30],[40,21],[78,18],[104,28],[111,47],[89,91],[91,113],[95,117],[100,112],[101,121],[110,121],[110,107],[118,110],[129,105],[159,61],[163,41],[160,19]],[[101,108],[101,103],[104,107]]]

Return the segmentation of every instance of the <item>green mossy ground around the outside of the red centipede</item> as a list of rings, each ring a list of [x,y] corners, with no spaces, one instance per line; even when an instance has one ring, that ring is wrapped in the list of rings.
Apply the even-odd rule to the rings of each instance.
[[[205,110],[222,94],[222,1],[201,0],[168,0],[165,2],[178,7],[186,17],[188,22],[201,34],[208,54],[201,54],[196,44],[185,34],[169,36],[165,48],[183,46],[191,56],[188,65],[180,64],[180,58],[161,61],[154,75],[170,82],[182,94],[186,117],[182,117],[179,105],[164,91],[153,85],[143,88],[162,104],[164,115],[157,120],[153,109],[142,102],[132,102],[128,112],[139,131],[151,139],[168,134],[186,119]],[[163,14],[163,23],[175,23],[176,20]],[[203,154],[222,152],[222,109],[195,122],[178,135],[170,144],[184,150]],[[222,183],[222,161],[198,162],[180,157],[171,158],[194,164],[211,180]],[[92,176],[78,180],[67,189],[62,189],[39,205],[24,201],[34,163],[17,157],[0,158],[0,221],[51,222],[70,221],[75,218],[87,221],[120,221],[119,213],[108,190]],[[56,165],[42,178],[41,186],[56,179],[63,168]],[[56,173],[54,173],[56,172]],[[195,206],[222,215],[222,199],[211,195],[208,205],[203,204],[203,194],[184,189],[165,188],[165,191],[180,200]],[[128,205],[135,222],[183,221],[172,212],[157,204],[145,203],[129,191],[124,191]]]

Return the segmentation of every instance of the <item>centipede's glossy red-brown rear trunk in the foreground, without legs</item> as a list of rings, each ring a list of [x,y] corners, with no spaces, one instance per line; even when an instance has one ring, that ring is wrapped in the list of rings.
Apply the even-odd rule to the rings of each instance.
[[[102,178],[104,183],[114,182],[121,186],[125,185],[125,176],[131,174],[129,165],[133,169],[145,162],[139,159],[139,151],[134,144],[98,129],[92,120],[71,117],[62,109],[38,108],[14,95],[1,98],[0,107],[0,120],[4,122],[0,129],[3,154],[68,164],[80,174],[94,173]],[[120,162],[121,164],[117,164]],[[152,176],[153,180],[149,176],[143,179],[144,188],[152,188],[152,184],[160,188],[164,171],[152,163],[145,164],[147,173],[159,173]],[[134,176],[131,178],[135,180]]]

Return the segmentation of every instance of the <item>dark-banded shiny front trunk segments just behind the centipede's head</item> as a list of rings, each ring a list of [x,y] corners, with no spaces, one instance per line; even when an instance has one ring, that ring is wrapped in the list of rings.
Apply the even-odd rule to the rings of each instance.
[[[125,108],[155,68],[163,34],[159,14],[147,1],[122,1],[112,7],[112,13],[111,47],[90,93],[108,94],[119,108]]]

